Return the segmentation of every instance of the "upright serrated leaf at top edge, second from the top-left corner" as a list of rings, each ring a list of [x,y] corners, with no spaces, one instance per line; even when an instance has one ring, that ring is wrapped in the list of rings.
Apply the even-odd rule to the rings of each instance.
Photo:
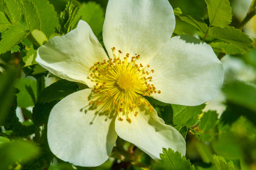
[[[41,29],[41,19],[35,4],[31,1],[23,0],[22,6],[28,29],[30,31]]]

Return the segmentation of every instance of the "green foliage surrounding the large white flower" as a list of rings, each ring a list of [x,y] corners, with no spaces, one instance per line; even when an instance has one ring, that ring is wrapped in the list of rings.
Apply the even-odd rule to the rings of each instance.
[[[219,59],[231,54],[255,73],[255,40],[242,29],[256,14],[255,0],[243,20],[236,15],[235,1],[170,3],[177,20],[174,36],[196,35],[212,46]],[[106,5],[107,1],[98,0],[0,0],[1,169],[89,169],[57,159],[47,141],[51,109],[65,96],[87,87],[56,78],[35,58],[39,46],[72,31],[79,19],[85,20],[102,41]],[[251,21],[255,32],[256,23]],[[256,78],[251,79],[224,79],[223,113],[217,106],[206,111],[208,103],[188,107],[146,97],[165,124],[174,126],[186,139],[186,157],[163,148],[161,160],[156,163],[139,148],[118,138],[111,159],[92,169],[255,168]]]

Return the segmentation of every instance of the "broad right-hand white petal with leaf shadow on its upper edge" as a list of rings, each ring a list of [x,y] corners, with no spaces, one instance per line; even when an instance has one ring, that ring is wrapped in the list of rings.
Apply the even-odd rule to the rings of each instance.
[[[164,103],[199,105],[219,94],[224,69],[211,46],[183,35],[169,43],[149,62],[153,84],[161,94],[152,96]]]

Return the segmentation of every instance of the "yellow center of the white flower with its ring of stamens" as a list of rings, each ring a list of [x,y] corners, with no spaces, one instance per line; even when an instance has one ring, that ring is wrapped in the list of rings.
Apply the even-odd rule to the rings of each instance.
[[[128,59],[128,53],[123,57],[120,50],[118,55],[114,47],[112,51],[113,58],[96,62],[91,67],[89,78],[95,82],[91,97],[96,100],[91,100],[89,105],[101,105],[100,109],[103,111],[115,112],[120,121],[125,116],[131,123],[129,114],[134,113],[137,116],[137,107],[142,103],[148,105],[150,112],[153,112],[153,107],[141,95],[150,96],[153,93],[160,94],[161,91],[157,91],[151,83],[152,76],[149,74],[154,73],[154,70],[148,70],[149,65],[144,67],[137,63],[140,55]]]

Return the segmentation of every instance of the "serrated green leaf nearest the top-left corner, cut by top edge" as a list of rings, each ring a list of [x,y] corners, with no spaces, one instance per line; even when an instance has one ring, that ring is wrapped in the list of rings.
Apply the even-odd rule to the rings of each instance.
[[[22,15],[18,2],[15,0],[3,0],[5,2],[5,12],[12,24],[19,22]]]

